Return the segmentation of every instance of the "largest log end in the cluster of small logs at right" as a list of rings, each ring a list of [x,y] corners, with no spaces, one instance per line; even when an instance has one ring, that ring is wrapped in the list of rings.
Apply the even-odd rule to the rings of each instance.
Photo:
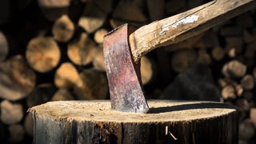
[[[222,74],[226,77],[242,78],[246,74],[246,65],[238,60],[232,60],[222,67]]]

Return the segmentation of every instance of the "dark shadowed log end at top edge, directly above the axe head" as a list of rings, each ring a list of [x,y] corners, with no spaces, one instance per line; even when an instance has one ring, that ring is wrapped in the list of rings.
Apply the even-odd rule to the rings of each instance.
[[[146,22],[147,18],[142,10],[130,1],[120,1],[113,12],[113,18],[130,22]]]

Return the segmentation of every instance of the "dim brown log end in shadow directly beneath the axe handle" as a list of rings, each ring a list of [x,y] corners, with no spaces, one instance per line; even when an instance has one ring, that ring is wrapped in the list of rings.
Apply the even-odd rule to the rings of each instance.
[[[171,66],[174,71],[180,73],[193,64],[196,58],[194,50],[179,50],[172,56]]]

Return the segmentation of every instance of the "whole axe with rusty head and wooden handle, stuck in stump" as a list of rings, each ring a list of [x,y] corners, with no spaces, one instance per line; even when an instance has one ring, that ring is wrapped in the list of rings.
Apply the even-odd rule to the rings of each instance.
[[[138,29],[124,24],[110,31],[104,37],[103,49],[112,110],[149,110],[142,90],[142,55],[200,34],[255,6],[254,0],[215,0]]]

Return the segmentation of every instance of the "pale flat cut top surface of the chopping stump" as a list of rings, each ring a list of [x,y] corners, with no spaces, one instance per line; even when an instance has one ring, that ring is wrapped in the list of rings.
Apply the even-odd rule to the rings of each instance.
[[[219,102],[148,101],[148,114],[111,110],[110,101],[57,101],[30,108],[30,113],[67,121],[92,122],[179,122],[216,118],[236,111]]]

